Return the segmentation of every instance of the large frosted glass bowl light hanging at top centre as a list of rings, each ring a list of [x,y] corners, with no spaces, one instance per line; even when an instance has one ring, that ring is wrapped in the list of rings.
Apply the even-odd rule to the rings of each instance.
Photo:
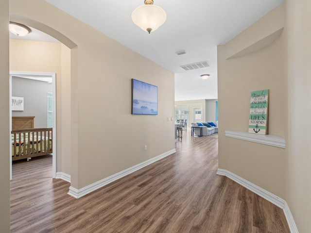
[[[145,5],[138,6],[132,13],[133,22],[143,31],[149,34],[155,31],[166,20],[165,11],[158,6],[154,6],[153,0],[145,0]]]

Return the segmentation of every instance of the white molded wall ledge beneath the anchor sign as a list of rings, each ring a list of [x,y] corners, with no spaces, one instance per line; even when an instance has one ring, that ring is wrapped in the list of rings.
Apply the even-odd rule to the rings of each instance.
[[[285,149],[285,139],[275,135],[269,134],[262,135],[262,134],[226,130],[225,136]]]

